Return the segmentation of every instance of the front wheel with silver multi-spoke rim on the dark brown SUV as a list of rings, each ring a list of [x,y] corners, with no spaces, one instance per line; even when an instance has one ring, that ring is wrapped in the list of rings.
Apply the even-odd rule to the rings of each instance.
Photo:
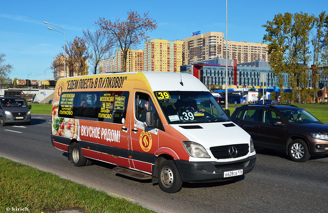
[[[305,162],[311,157],[306,143],[300,139],[294,140],[289,144],[288,154],[295,162]]]

